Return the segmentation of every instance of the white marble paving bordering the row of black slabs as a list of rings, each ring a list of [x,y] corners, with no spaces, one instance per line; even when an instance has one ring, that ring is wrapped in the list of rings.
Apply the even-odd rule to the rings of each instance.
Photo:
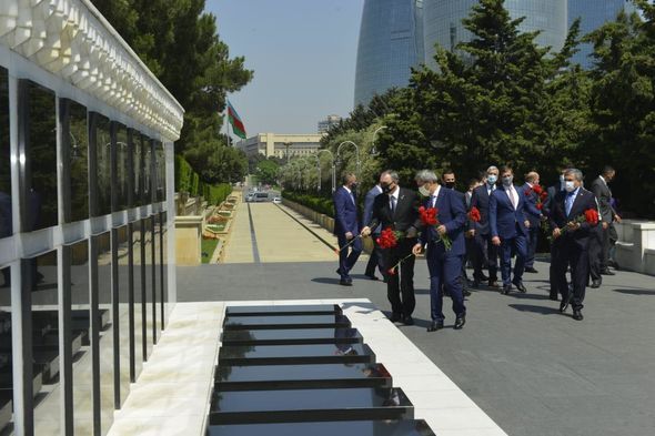
[[[209,410],[220,327],[229,305],[340,304],[439,436],[506,436],[419,347],[369,300],[294,300],[178,303],[167,329],[115,413],[110,436],[202,435]]]

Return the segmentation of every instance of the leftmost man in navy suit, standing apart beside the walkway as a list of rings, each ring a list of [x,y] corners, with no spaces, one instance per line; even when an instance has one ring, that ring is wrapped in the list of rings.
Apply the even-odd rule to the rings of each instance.
[[[362,240],[355,239],[360,234],[357,220],[357,201],[354,190],[357,185],[357,178],[353,173],[343,176],[343,185],[334,191],[334,234],[339,241],[339,268],[336,273],[341,276],[339,284],[352,286],[353,280],[350,271],[357,262],[362,253]],[[351,243],[352,242],[352,243]],[[346,245],[350,243],[350,246]]]

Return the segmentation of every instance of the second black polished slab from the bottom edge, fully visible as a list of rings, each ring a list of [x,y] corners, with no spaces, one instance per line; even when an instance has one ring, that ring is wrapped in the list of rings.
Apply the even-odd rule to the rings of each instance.
[[[210,408],[211,425],[413,417],[400,388],[214,391]]]

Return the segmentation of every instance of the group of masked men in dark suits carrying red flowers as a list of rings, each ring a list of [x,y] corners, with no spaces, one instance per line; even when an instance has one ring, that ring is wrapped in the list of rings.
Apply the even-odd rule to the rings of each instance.
[[[615,171],[605,168],[587,191],[582,172],[567,168],[562,170],[560,183],[546,191],[536,172],[527,173],[518,186],[511,166],[490,166],[481,180],[471,181],[468,191],[461,193],[454,190],[452,171],[445,171],[441,179],[433,171],[420,171],[417,190],[400,186],[397,173],[384,171],[366,193],[360,227],[356,176],[345,174],[333,197],[340,284],[352,285],[350,271],[362,252],[361,239],[372,236],[374,250],[365,275],[377,280],[375,270],[380,271],[387,286],[391,321],[412,325],[416,304],[414,263],[424,252],[432,318],[427,331],[444,327],[444,294],[452,298],[454,328],[460,329],[466,323],[467,286],[477,288],[486,283],[502,294],[514,288],[527,291],[523,274],[537,272],[534,258],[538,234],[545,231],[551,241],[550,297],[558,301],[561,296],[560,312],[571,305],[573,318],[583,320],[587,282],[598,287],[602,274],[613,274],[608,270],[611,247],[616,242],[613,223],[621,221],[607,185],[614,176]],[[382,241],[389,234],[381,239],[390,232],[394,240],[391,245]],[[473,266],[471,282],[466,262]]]

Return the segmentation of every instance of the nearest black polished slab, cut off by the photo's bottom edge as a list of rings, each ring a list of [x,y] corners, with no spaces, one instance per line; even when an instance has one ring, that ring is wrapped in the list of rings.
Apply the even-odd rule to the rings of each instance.
[[[435,436],[423,419],[213,425],[208,436]]]

